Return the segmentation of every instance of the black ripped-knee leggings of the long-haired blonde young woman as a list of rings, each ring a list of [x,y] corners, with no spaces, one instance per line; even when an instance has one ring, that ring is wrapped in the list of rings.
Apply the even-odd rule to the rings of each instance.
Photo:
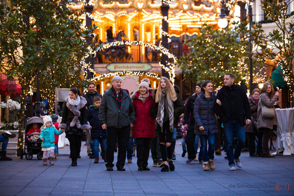
[[[160,143],[172,143],[172,135],[173,133],[170,130],[170,122],[164,122],[162,127],[162,132],[159,130],[159,142]],[[164,144],[160,144],[160,151],[162,155],[162,160],[167,161],[167,151],[168,151],[168,158],[172,159],[172,145],[167,147]]]

